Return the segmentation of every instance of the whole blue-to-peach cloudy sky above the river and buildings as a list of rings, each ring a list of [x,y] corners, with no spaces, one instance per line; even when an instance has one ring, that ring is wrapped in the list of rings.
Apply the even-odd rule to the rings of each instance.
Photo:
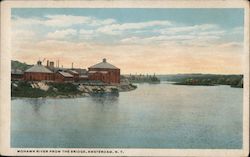
[[[12,60],[122,74],[243,73],[243,9],[13,8]],[[43,63],[46,64],[46,61]]]

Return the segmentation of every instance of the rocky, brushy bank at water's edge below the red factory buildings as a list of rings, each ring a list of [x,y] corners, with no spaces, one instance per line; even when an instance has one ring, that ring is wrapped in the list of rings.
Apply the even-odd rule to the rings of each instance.
[[[117,85],[93,85],[84,83],[53,83],[53,82],[11,82],[11,97],[26,98],[76,98],[96,95],[119,95],[136,89],[129,82]]]

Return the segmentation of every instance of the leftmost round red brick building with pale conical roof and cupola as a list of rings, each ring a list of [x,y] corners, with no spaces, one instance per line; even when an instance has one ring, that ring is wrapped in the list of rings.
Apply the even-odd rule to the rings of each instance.
[[[54,74],[51,70],[42,65],[41,61],[38,61],[36,65],[27,69],[24,72],[24,80],[26,81],[53,81]]]

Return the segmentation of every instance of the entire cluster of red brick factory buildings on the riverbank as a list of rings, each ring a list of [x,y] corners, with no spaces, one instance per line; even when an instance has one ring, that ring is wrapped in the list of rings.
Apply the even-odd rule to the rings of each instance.
[[[13,79],[22,79],[14,77]],[[106,84],[120,83],[120,69],[108,63],[106,59],[85,69],[67,69],[54,67],[54,62],[47,61],[47,66],[43,66],[41,61],[26,70],[23,74],[25,81],[54,81],[54,82],[82,82],[101,81]]]

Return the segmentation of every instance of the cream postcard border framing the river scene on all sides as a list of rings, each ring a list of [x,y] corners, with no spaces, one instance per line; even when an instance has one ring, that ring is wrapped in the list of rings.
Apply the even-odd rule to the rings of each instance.
[[[85,148],[11,148],[10,147],[10,60],[11,60],[11,8],[244,8],[244,106],[243,149],[85,149]],[[247,0],[92,0],[92,1],[3,1],[1,2],[0,53],[0,152],[19,156],[247,156],[249,152],[249,2]],[[56,153],[56,151],[79,151]],[[86,151],[82,153],[80,151]],[[99,153],[98,151],[119,153]],[[20,151],[20,152],[18,152]],[[34,151],[34,152],[25,152]],[[40,151],[40,152],[36,152]],[[48,152],[46,152],[48,151]],[[53,152],[52,152],[53,151]],[[90,151],[90,153],[88,153]],[[92,153],[92,152],[93,153]],[[97,151],[95,153],[94,151]],[[122,153],[123,152],[123,153]]]

